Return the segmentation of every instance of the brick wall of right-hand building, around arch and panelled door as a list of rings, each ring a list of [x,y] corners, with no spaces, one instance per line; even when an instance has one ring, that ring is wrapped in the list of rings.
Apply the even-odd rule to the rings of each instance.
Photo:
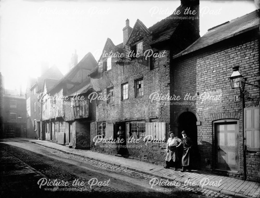
[[[234,102],[234,95],[239,95],[239,89],[231,89],[229,76],[232,67],[239,64],[240,72],[247,78],[249,83],[255,84],[259,76],[259,41],[252,39],[255,33],[242,34],[236,38],[219,42],[192,53],[192,56],[183,56],[174,60],[170,78],[173,82],[171,95],[180,95],[178,102],[194,102],[194,104],[170,105],[171,124],[175,123],[179,112],[187,110],[194,111],[200,118],[201,125],[197,126],[197,143],[201,154],[202,168],[212,169],[214,167],[213,152],[213,121],[220,119],[236,119],[239,124],[239,164],[237,174],[228,174],[233,177],[243,178],[243,116],[242,102]],[[245,39],[247,38],[247,39]],[[255,37],[256,38],[256,37]],[[247,97],[245,107],[255,107],[259,101],[259,88],[245,85]],[[184,100],[186,93],[196,95],[194,101]],[[221,94],[220,100],[210,100],[201,95],[206,93],[217,96]],[[246,152],[247,179],[259,181],[259,156],[255,153]],[[258,162],[258,163],[256,163]]]

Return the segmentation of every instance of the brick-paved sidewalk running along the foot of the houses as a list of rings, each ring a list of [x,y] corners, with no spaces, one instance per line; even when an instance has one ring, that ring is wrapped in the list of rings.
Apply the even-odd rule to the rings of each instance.
[[[118,156],[106,155],[98,152],[92,152],[90,150],[70,149],[66,146],[43,140],[28,138],[21,139],[46,146],[48,148],[56,149],[68,154],[73,154],[84,158],[94,159],[100,162],[112,164],[120,168],[134,170],[174,181],[189,181],[189,184],[191,184],[191,186],[195,185],[196,187],[200,187],[205,190],[208,189],[240,197],[260,197],[260,184],[257,182],[243,181],[236,178],[214,175],[205,171],[198,170],[192,170],[191,172],[184,173],[181,173],[180,171],[174,171],[173,169],[167,169],[166,171],[164,168],[162,168],[161,165],[150,164]],[[208,180],[206,178],[208,178]],[[216,184],[216,182],[219,180],[222,180],[220,182],[221,185],[214,186],[214,184]],[[213,185],[210,185],[210,182],[212,182]]]

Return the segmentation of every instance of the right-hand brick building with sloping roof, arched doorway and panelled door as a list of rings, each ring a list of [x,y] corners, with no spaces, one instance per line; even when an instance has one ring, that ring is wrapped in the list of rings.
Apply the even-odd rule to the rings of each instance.
[[[170,106],[172,121],[197,143],[200,166],[259,182],[259,10],[209,29],[172,65],[171,95],[182,97],[171,102],[183,103]],[[243,95],[231,88],[234,66],[243,75]]]

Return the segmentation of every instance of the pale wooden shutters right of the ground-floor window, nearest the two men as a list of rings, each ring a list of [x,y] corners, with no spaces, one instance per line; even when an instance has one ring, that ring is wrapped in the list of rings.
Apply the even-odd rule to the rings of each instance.
[[[147,122],[145,123],[145,136],[152,135],[153,139],[164,139],[165,122]],[[148,138],[151,139],[151,138]]]

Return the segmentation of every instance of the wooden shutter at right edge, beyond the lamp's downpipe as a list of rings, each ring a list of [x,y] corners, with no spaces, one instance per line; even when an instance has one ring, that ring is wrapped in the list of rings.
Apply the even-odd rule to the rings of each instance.
[[[260,151],[260,107],[244,108],[246,150]]]

